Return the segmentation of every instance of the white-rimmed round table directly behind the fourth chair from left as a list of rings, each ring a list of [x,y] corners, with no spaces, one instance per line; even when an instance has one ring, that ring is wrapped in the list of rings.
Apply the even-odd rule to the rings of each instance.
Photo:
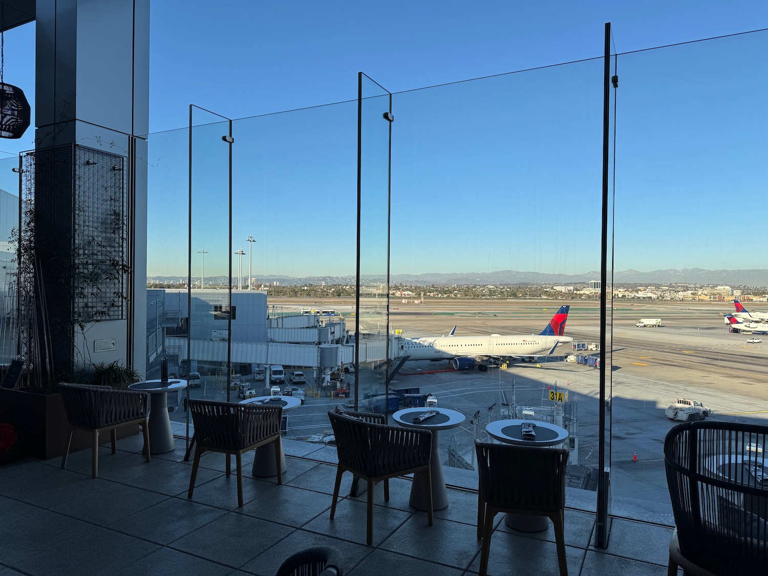
[[[536,438],[534,440],[523,439],[523,422],[533,422],[536,425],[534,429]],[[518,446],[559,446],[568,439],[568,430],[556,424],[539,422],[538,420],[496,420],[495,422],[488,422],[485,430],[488,435],[499,442]],[[549,519],[546,516],[508,512],[504,521],[510,528],[523,532],[540,532],[549,528]]]

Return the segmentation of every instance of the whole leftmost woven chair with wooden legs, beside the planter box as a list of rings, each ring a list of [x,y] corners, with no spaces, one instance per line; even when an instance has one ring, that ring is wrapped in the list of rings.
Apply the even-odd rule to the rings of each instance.
[[[67,449],[61,457],[61,468],[67,466],[67,456],[75,430],[83,430],[93,435],[91,454],[91,477],[98,476],[98,435],[109,430],[112,441],[112,454],[116,452],[115,441],[120,426],[141,424],[144,432],[144,452],[147,462],[149,454],[149,429],[147,418],[147,392],[134,390],[113,390],[110,386],[86,386],[61,382],[58,385],[61,399],[69,422]]]

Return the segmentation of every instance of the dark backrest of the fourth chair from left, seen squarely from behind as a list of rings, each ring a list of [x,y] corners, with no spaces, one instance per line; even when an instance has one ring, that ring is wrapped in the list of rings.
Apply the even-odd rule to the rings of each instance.
[[[565,507],[568,449],[475,440],[478,489],[499,508],[557,511]]]

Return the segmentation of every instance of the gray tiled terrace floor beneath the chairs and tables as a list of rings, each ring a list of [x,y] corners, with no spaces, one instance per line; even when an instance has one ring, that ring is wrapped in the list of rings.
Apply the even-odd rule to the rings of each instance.
[[[296,446],[295,452],[301,451]],[[259,574],[272,576],[295,551],[333,545],[352,576],[476,574],[477,495],[449,490],[450,505],[426,515],[408,504],[410,480],[390,482],[390,501],[376,486],[372,546],[366,546],[366,504],[339,500],[329,508],[336,467],[289,456],[283,486],[250,475],[243,458],[245,505],[237,507],[235,475],[224,458],[201,458],[194,497],[187,499],[190,464],[177,449],[144,462],[141,439],[102,446],[99,477],[91,452],[61,460],[24,460],[0,467],[0,576],[12,574]],[[286,453],[293,453],[286,442]],[[349,493],[345,475],[342,494]],[[594,548],[594,515],[566,510],[569,574],[666,574],[671,529],[614,520],[607,550]],[[489,574],[558,574],[554,532],[525,534],[497,517]]]

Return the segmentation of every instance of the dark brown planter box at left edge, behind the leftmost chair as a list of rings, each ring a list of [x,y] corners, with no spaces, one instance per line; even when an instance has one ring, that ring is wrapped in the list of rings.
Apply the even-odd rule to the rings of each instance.
[[[67,413],[61,394],[32,394],[20,390],[0,389],[0,413],[2,421],[13,425],[18,442],[25,455],[41,460],[64,454],[69,437]],[[121,426],[118,439],[138,434],[139,427]],[[101,444],[108,444],[110,437],[102,434]],[[91,435],[75,430],[69,453],[91,448]]]

